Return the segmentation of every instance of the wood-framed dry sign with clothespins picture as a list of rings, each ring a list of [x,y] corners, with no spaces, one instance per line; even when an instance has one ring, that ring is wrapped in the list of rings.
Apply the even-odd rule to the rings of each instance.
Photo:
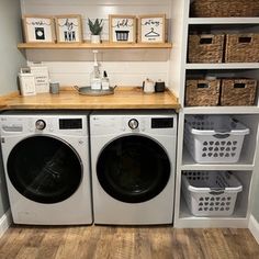
[[[81,15],[68,14],[55,16],[58,43],[82,42]]]

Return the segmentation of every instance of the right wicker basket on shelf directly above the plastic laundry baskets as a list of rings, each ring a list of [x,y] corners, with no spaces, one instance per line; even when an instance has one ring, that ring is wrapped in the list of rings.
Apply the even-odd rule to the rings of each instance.
[[[254,105],[256,91],[256,80],[223,79],[221,105]]]

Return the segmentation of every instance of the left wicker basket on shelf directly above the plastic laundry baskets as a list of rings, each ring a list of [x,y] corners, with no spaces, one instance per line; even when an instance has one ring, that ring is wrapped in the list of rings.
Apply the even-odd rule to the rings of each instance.
[[[187,80],[185,105],[215,106],[219,101],[221,80]]]

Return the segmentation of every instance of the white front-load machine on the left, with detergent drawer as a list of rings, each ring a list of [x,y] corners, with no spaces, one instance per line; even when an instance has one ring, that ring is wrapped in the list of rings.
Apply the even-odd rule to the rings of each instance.
[[[0,115],[13,222],[92,223],[87,114]]]

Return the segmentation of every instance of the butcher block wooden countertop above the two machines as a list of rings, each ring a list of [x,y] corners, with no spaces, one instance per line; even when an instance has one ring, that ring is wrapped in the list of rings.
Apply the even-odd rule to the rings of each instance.
[[[11,93],[0,99],[1,110],[104,110],[104,109],[180,109],[178,99],[166,90],[144,93],[139,87],[117,87],[111,95],[82,95],[70,87],[63,87],[58,94],[38,93],[22,97]]]

